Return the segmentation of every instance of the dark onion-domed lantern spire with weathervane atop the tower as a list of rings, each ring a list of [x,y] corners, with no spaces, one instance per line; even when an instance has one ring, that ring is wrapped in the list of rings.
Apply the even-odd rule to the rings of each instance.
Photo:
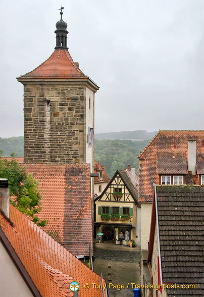
[[[61,14],[61,19],[60,21],[58,21],[56,23],[56,28],[57,30],[55,30],[56,33],[56,48],[66,48],[66,50],[68,50],[67,47],[67,34],[69,33],[67,31],[67,23],[65,21],[63,21],[62,19],[62,15],[63,12],[62,10],[64,9],[64,7],[61,6],[61,8],[59,10],[61,10],[60,14]]]

